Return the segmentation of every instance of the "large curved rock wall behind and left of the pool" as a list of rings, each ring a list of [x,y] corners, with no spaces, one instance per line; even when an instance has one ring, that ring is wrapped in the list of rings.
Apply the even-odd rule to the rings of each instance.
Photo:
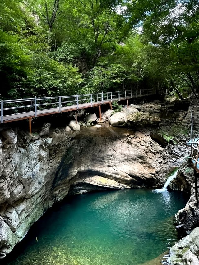
[[[0,258],[67,194],[160,187],[173,163],[169,150],[146,129],[133,133],[90,127],[76,132],[67,126],[46,131],[42,136],[12,129],[0,133]]]

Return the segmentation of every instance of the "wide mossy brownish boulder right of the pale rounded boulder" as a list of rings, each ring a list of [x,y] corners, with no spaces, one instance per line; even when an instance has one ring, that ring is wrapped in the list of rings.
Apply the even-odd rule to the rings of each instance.
[[[127,116],[127,124],[135,127],[158,126],[160,117],[149,113],[134,113]]]

